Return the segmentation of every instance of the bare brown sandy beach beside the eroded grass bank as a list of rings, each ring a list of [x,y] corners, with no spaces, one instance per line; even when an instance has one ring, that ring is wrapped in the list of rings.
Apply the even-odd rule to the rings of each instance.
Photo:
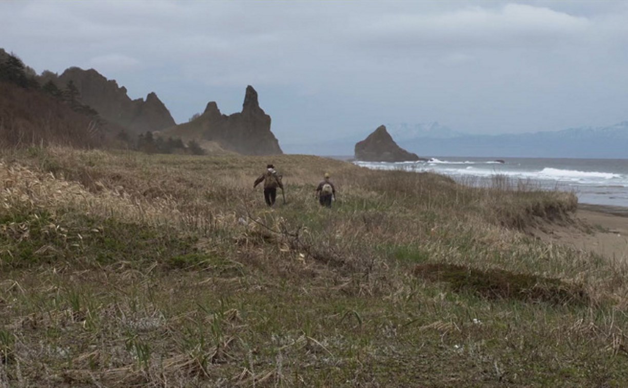
[[[581,203],[575,220],[575,224],[535,229],[533,234],[611,260],[628,259],[628,208]]]

